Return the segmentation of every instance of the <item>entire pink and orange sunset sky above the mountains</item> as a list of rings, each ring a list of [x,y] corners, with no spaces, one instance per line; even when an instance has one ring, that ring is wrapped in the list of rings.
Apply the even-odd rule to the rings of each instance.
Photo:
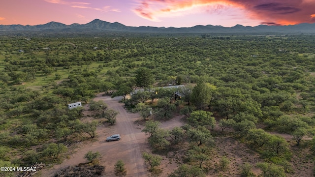
[[[0,25],[86,24],[232,27],[315,23],[315,0],[1,0]]]

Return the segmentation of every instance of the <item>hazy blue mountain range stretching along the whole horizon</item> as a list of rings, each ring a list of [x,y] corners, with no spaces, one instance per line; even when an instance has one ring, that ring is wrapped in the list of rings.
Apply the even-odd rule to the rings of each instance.
[[[0,25],[0,34],[24,34],[24,33],[99,33],[99,32],[132,32],[132,33],[278,33],[278,34],[315,34],[314,24],[299,24],[288,26],[267,26],[256,27],[236,25],[234,27],[222,27],[213,25],[197,25],[189,28],[164,28],[164,27],[128,27],[121,23],[110,23],[95,19],[87,24],[65,25],[58,22],[49,22],[44,25]]]

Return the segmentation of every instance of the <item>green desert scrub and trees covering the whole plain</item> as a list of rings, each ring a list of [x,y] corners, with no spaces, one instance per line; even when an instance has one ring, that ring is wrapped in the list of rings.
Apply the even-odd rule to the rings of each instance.
[[[301,163],[314,158],[309,139],[315,136],[315,36],[0,39],[4,165],[60,163],[71,143],[97,137],[97,118],[114,125],[117,112],[91,101],[99,92],[123,96],[126,109],[140,113],[155,152],[187,149],[174,177],[203,176],[215,168],[228,174],[234,161],[227,154],[218,155],[218,166],[211,162],[221,136],[259,154],[251,167],[243,161],[242,176],[252,176],[252,168],[266,177],[289,176],[309,168]],[[185,87],[163,88],[180,84]],[[129,99],[134,89],[143,90]],[[89,104],[91,120],[84,108],[67,109],[78,101]],[[185,115],[185,126],[159,127],[158,121],[178,113]],[[305,158],[293,153],[296,148]],[[156,156],[144,158],[157,168],[149,157]]]

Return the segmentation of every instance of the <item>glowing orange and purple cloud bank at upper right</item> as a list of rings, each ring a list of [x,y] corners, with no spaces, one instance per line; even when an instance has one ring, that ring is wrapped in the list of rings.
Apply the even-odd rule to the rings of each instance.
[[[160,21],[189,13],[216,13],[224,7],[242,9],[249,19],[269,25],[314,23],[315,17],[315,0],[141,0],[133,11],[142,18]]]

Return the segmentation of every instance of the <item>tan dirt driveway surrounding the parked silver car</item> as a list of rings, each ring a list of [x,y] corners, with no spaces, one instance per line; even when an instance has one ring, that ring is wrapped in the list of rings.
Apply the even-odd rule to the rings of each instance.
[[[117,121],[114,126],[101,125],[97,127],[97,140],[93,143],[83,143],[80,148],[76,149],[69,159],[63,161],[60,165],[55,165],[53,169],[42,171],[43,177],[51,177],[59,170],[75,166],[79,163],[87,162],[84,155],[92,150],[98,151],[101,154],[101,165],[105,165],[106,177],[116,177],[114,174],[114,165],[118,160],[125,162],[127,171],[126,177],[149,177],[150,173],[147,171],[147,166],[142,158],[143,151],[150,151],[147,136],[141,132],[142,125],[135,124],[134,121],[139,119],[138,114],[130,114],[124,109],[124,104],[119,103],[120,97],[114,99],[109,96],[102,96],[97,94],[95,101],[103,100],[109,107],[119,112]],[[87,114],[88,111],[85,113]],[[175,126],[183,125],[181,121],[182,116],[176,116],[171,120],[161,123],[162,128],[171,129]],[[121,134],[120,141],[106,142],[106,137],[112,134]]]

